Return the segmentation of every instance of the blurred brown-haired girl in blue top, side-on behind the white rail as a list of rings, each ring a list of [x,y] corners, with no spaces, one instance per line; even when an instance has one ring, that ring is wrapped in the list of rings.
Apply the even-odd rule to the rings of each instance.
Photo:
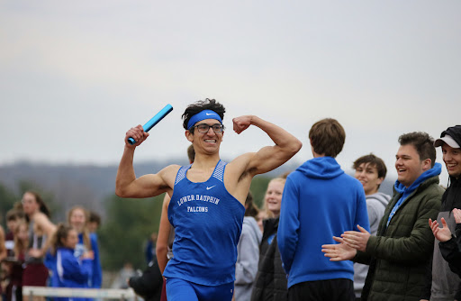
[[[51,287],[88,287],[91,274],[93,251],[87,251],[80,258],[74,256],[78,242],[77,231],[60,223],[53,236],[51,248],[56,259],[53,265]],[[68,297],[57,297],[56,301],[68,301]],[[72,298],[73,301],[86,300]]]

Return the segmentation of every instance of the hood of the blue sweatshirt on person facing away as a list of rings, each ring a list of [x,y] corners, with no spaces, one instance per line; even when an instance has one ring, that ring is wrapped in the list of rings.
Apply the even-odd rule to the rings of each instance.
[[[296,171],[302,172],[308,178],[321,179],[337,178],[344,173],[344,170],[332,157],[320,157],[305,161]]]

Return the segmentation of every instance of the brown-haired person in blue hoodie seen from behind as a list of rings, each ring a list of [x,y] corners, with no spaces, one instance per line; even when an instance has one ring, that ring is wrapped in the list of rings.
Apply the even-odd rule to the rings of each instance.
[[[335,233],[369,230],[362,184],[335,160],[346,133],[335,119],[314,123],[309,132],[313,159],[286,179],[278,248],[288,275],[288,300],[355,300],[351,261],[331,262],[321,252]]]

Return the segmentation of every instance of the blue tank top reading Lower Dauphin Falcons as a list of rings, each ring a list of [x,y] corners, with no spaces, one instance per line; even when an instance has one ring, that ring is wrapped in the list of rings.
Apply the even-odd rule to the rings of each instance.
[[[245,207],[224,187],[225,162],[220,160],[212,177],[200,183],[185,177],[191,166],[177,172],[168,205],[176,237],[164,276],[204,286],[234,282]]]

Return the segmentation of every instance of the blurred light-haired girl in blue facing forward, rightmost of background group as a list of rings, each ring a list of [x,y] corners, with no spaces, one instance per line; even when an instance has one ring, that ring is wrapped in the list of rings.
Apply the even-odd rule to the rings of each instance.
[[[101,268],[101,261],[99,260],[97,236],[95,233],[90,233],[88,221],[89,213],[84,207],[76,205],[68,211],[68,224],[70,224],[78,234],[78,242],[74,256],[80,258],[86,251],[93,251],[94,259],[92,260],[91,273],[88,278],[88,287],[100,288],[103,282],[103,269]]]

